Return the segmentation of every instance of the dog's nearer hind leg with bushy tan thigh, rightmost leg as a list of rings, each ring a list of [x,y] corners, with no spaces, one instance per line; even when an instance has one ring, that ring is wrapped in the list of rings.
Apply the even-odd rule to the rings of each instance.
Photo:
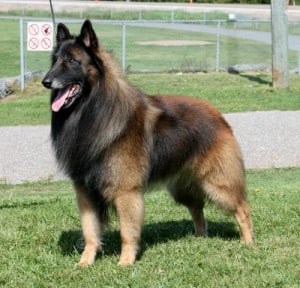
[[[200,157],[194,171],[206,196],[235,216],[241,241],[251,243],[253,228],[243,162],[237,143],[233,138],[229,138],[229,141],[230,145],[220,143],[206,158]]]

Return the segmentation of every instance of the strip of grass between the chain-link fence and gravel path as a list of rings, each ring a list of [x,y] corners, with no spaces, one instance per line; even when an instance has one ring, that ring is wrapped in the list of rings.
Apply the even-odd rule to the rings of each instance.
[[[129,81],[148,94],[182,94],[205,99],[221,112],[300,110],[300,77],[290,76],[289,89],[270,87],[269,74],[130,74]],[[49,91],[40,79],[21,93],[0,100],[0,126],[50,122]]]

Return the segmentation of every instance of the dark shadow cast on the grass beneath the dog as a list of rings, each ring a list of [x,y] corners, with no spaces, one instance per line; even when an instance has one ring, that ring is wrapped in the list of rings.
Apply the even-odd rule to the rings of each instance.
[[[143,228],[141,240],[141,252],[139,258],[148,247],[168,241],[177,241],[192,235],[194,227],[192,221],[168,221],[155,224],[147,224]],[[208,238],[239,239],[239,233],[234,223],[208,221]],[[200,239],[199,239],[200,241]],[[103,249],[105,255],[116,255],[121,252],[120,233],[118,230],[106,231],[103,237]],[[82,233],[80,230],[63,231],[58,245],[64,256],[81,253],[84,248]]]

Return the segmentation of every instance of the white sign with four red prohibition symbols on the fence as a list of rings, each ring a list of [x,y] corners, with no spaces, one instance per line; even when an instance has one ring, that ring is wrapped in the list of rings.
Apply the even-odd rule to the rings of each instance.
[[[51,51],[53,47],[53,23],[27,23],[27,50]]]

